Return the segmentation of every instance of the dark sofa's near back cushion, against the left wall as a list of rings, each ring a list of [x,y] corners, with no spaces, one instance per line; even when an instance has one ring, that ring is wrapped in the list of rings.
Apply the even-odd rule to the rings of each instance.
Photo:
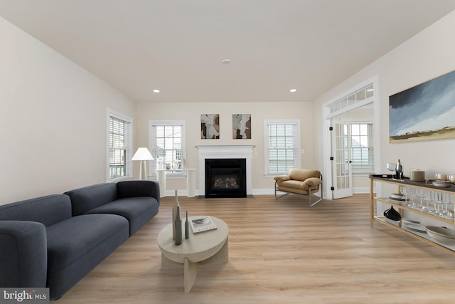
[[[50,226],[71,217],[68,195],[53,194],[0,206],[0,220],[38,221]]]

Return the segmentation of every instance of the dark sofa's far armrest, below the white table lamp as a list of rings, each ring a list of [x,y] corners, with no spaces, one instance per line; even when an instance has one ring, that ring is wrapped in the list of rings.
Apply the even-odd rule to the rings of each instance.
[[[130,180],[117,183],[119,199],[151,196],[159,203],[159,183],[151,180]]]

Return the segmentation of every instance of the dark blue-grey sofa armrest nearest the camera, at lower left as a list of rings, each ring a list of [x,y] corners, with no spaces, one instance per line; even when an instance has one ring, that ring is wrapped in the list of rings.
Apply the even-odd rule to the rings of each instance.
[[[0,286],[45,287],[48,246],[36,221],[0,221]]]

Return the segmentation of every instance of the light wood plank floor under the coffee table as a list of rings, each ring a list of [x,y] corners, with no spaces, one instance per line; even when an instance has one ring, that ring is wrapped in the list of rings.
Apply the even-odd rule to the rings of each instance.
[[[183,293],[183,266],[161,267],[156,245],[173,197],[158,216],[55,303],[455,303],[455,256],[375,224],[368,194],[188,199],[191,216],[229,226],[229,263],[200,266]]]

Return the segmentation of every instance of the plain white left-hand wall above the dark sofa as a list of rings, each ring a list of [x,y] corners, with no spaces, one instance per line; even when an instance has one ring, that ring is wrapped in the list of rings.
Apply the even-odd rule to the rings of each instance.
[[[106,181],[107,108],[136,104],[0,18],[0,204]]]

